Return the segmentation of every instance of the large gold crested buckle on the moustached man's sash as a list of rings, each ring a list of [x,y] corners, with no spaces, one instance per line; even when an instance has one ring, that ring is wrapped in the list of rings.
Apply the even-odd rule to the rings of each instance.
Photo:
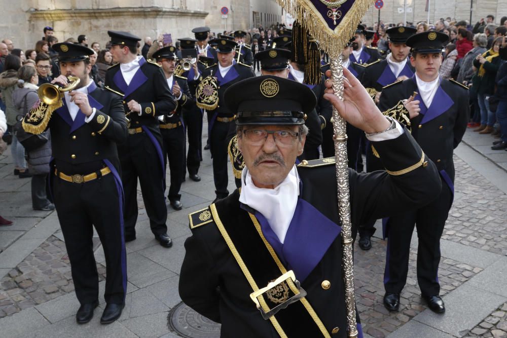
[[[306,296],[306,291],[301,287],[292,270],[268,283],[266,287],[250,293],[251,300],[261,311],[264,319],[269,319],[304,296]]]

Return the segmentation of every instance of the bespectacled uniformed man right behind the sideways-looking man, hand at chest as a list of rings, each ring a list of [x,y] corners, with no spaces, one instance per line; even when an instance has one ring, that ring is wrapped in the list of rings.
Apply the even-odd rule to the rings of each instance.
[[[183,120],[183,108],[193,102],[190,94],[187,78],[174,74],[176,68],[176,47],[168,46],[153,53],[153,58],[162,66],[167,85],[171,89],[174,98],[178,101],[176,110],[167,111],[159,116],[160,132],[164,142],[164,163],[169,160],[171,172],[171,185],[169,186],[169,203],[175,210],[182,209],[179,199],[179,189],[185,176],[185,123]]]

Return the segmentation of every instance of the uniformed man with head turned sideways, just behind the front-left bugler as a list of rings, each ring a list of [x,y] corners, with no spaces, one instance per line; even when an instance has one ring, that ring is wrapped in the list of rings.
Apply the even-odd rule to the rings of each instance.
[[[135,240],[137,179],[141,184],[150,228],[163,247],[171,247],[167,235],[165,166],[158,116],[177,107],[160,65],[136,56],[139,37],[108,31],[116,65],[107,69],[105,88],[123,97],[129,122],[127,141],[118,145],[125,189],[125,240]]]

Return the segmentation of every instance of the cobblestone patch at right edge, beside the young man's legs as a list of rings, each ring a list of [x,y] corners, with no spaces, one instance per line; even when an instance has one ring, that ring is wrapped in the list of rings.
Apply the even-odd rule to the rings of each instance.
[[[507,255],[507,196],[458,157],[457,196],[442,239]]]

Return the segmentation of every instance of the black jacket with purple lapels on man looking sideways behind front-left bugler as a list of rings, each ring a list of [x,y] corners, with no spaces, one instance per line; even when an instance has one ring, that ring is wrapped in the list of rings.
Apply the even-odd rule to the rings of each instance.
[[[139,64],[140,67],[128,86],[118,64],[108,68],[105,74],[105,88],[123,97],[125,112],[130,110],[127,106],[130,100],[137,101],[141,105],[141,115],[139,116],[137,112],[129,114],[130,128],[146,126],[161,142],[157,116],[175,110],[177,102],[167,85],[162,68],[143,58]]]

